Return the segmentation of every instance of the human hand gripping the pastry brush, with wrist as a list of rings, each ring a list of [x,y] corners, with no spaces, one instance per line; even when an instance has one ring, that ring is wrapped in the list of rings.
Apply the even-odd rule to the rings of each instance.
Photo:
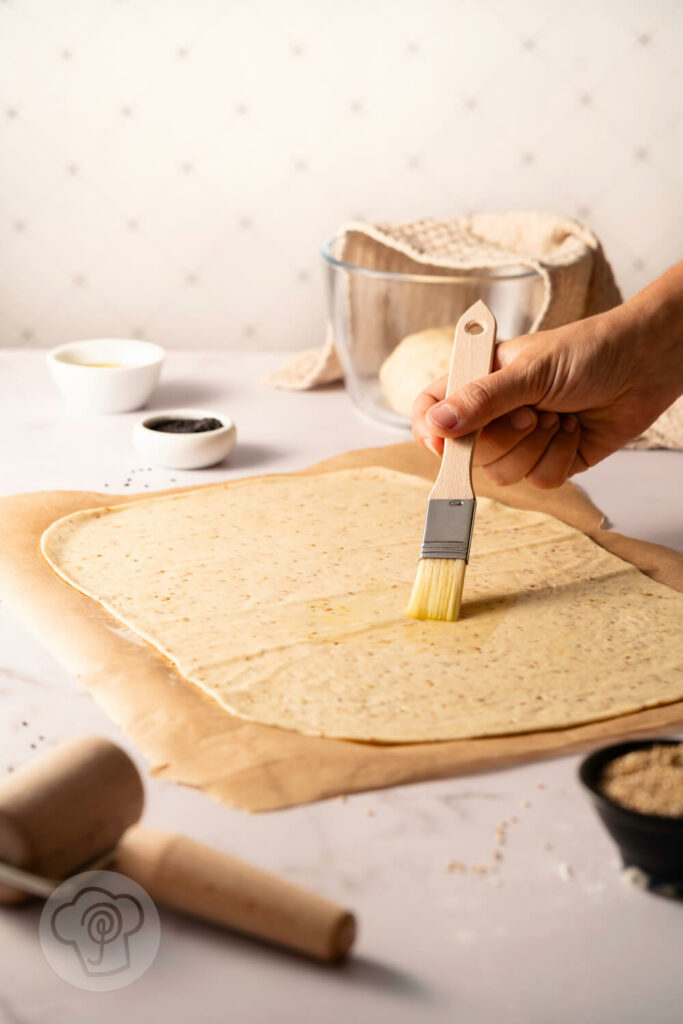
[[[442,377],[416,398],[416,440],[441,455],[444,437],[481,429],[474,464],[499,484],[526,477],[556,487],[600,462],[683,388],[683,346],[674,357],[678,339],[660,323],[653,329],[658,307],[651,298],[502,342],[494,372],[453,395]]]

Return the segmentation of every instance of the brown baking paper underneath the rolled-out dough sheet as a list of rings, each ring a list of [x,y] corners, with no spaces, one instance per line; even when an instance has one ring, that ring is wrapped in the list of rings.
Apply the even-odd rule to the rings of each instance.
[[[432,456],[405,443],[349,452],[302,472],[359,466],[385,466],[430,479],[437,468]],[[526,483],[502,488],[475,471],[475,488],[506,504],[555,515],[652,579],[683,591],[682,555],[601,529],[601,513],[571,484],[553,492]],[[500,768],[683,724],[683,701],[678,701],[548,732],[376,745],[303,736],[236,718],[95,601],[66,584],[42,558],[40,537],[55,519],[139,498],[73,490],[0,500],[0,588],[8,605],[148,758],[153,776],[196,786],[234,807],[268,811]],[[416,558],[418,542],[416,538]]]

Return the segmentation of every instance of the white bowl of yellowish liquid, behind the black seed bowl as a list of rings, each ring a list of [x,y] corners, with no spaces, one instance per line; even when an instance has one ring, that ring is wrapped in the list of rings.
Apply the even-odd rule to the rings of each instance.
[[[127,413],[145,403],[165,356],[161,345],[150,341],[97,338],[50,349],[47,366],[76,412]]]

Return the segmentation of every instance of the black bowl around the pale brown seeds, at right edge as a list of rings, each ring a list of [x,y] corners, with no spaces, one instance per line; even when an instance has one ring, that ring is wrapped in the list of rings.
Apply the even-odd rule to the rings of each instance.
[[[614,758],[648,746],[680,742],[680,739],[634,739],[603,746],[585,758],[579,769],[579,777],[620,848],[625,865],[640,867],[655,882],[683,883],[683,818],[630,811],[605,797],[598,785],[603,769]]]

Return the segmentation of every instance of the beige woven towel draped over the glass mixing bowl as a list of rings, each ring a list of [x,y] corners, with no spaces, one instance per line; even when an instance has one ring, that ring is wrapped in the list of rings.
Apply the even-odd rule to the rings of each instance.
[[[536,270],[542,284],[533,313],[526,319],[526,323],[531,319],[530,331],[549,330],[592,316],[622,301],[612,269],[595,234],[579,221],[552,213],[475,214],[453,220],[413,220],[398,224],[353,222],[339,233],[340,258],[370,269],[428,275],[438,274],[444,268],[458,271],[522,266]],[[470,300],[482,297],[480,287],[474,284],[471,292],[471,296],[462,296],[463,308]],[[353,280],[347,300],[354,361],[368,373],[377,373],[399,340],[394,335],[388,336],[388,329],[383,330],[382,291],[377,281],[369,283],[359,276]],[[454,323],[452,307],[439,310],[431,293],[428,301],[427,310],[425,290],[415,286],[404,304],[418,327],[407,322],[402,335],[422,327]],[[445,295],[438,301],[451,302]],[[272,387],[307,390],[341,377],[342,367],[329,327],[324,345],[297,352],[264,382]],[[683,399],[630,446],[683,449]]]

